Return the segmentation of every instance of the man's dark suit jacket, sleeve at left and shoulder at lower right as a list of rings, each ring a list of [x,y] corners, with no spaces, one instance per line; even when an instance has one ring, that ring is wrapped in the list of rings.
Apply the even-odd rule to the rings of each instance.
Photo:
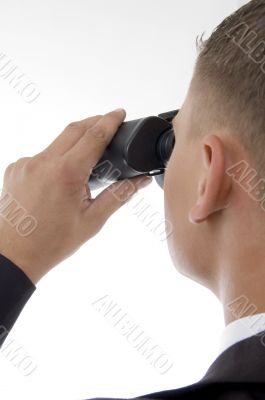
[[[18,266],[0,255],[0,346],[35,289]],[[265,400],[265,346],[261,335],[224,351],[199,382],[134,399]]]

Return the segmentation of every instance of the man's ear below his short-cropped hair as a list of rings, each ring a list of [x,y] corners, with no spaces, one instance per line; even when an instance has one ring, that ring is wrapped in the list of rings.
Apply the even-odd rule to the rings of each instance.
[[[198,185],[198,199],[189,212],[189,221],[193,224],[204,222],[210,215],[227,208],[232,187],[226,173],[224,145],[218,136],[204,138],[202,156],[204,171]]]

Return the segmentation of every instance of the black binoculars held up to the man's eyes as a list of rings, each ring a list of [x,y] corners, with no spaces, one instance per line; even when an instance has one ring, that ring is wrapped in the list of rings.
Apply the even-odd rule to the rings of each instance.
[[[99,189],[134,176],[155,176],[163,189],[164,174],[175,145],[172,120],[179,110],[123,122],[88,180]]]

